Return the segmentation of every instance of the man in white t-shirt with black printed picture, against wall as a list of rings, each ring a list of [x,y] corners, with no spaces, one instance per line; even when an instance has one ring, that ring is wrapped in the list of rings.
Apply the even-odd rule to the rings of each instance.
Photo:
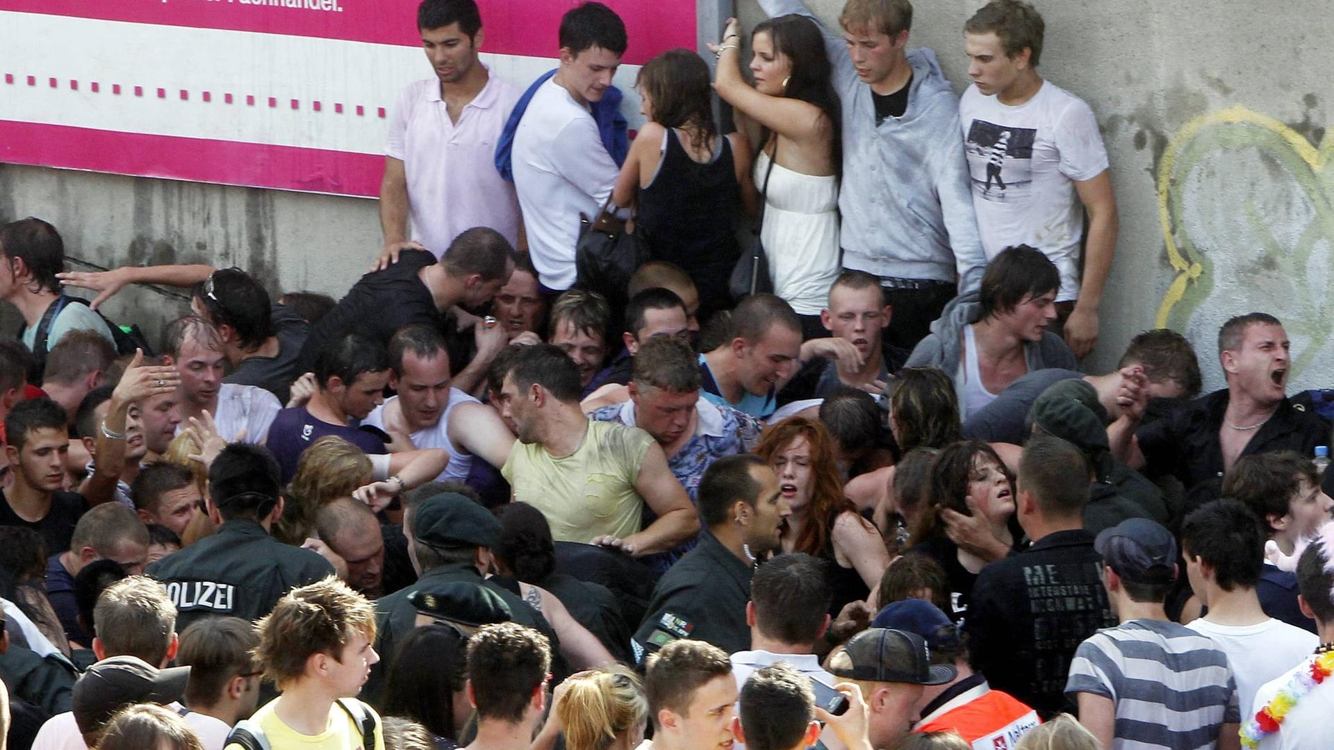
[[[1117,199],[1093,109],[1038,75],[1043,25],[1021,0],[992,0],[968,19],[972,85],[959,100],[959,121],[987,258],[1017,244],[1047,254],[1061,270],[1066,343],[1082,358],[1098,340],[1098,304],[1117,250]]]

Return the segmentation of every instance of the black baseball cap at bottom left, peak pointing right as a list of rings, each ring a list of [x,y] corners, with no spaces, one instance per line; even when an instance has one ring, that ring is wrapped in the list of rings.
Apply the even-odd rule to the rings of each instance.
[[[180,701],[188,679],[189,667],[160,670],[137,657],[111,657],[75,682],[69,707],[79,731],[91,734],[125,706]]]

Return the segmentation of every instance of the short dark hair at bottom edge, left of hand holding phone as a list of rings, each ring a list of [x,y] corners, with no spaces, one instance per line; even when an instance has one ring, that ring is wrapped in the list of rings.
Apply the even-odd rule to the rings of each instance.
[[[795,747],[815,718],[811,679],[784,662],[755,670],[736,703],[746,746],[752,750]]]

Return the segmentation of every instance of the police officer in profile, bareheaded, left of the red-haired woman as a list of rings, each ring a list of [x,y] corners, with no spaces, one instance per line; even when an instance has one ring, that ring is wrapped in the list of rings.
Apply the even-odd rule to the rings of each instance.
[[[751,454],[715,460],[699,482],[699,512],[708,526],[699,543],[662,577],[648,617],[635,633],[635,662],[678,638],[727,651],[750,649],[746,602],[755,563],[776,550],[792,510],[778,475]]]

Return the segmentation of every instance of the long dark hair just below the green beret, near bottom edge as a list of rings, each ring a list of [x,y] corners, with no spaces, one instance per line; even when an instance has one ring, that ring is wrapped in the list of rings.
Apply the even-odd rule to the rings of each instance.
[[[448,625],[427,625],[408,633],[384,678],[384,713],[422,722],[431,734],[459,739],[454,726],[454,693],[467,681],[468,641]]]

